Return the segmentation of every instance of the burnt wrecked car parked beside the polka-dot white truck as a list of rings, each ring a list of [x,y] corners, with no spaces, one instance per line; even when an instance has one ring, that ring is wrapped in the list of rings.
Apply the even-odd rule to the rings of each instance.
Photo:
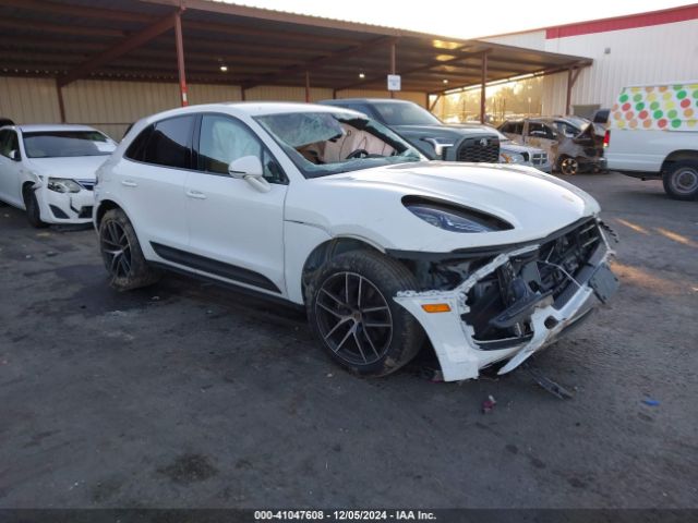
[[[554,170],[563,174],[605,169],[603,135],[580,117],[510,120],[500,125],[509,138],[547,151]],[[602,131],[601,131],[602,132]]]

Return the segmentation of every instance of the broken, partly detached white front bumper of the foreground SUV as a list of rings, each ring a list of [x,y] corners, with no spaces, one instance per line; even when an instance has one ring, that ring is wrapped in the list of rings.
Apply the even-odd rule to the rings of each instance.
[[[477,378],[481,368],[506,360],[508,362],[500,369],[500,374],[508,373],[537,351],[556,341],[564,330],[583,319],[599,301],[605,302],[615,291],[617,280],[606,265],[613,251],[600,229],[598,232],[601,239],[599,244],[574,277],[567,275],[569,282],[562,293],[555,297],[545,293],[531,296],[517,311],[519,316],[515,320],[525,326],[526,336],[483,342],[477,339],[476,329],[465,317],[469,317],[472,307],[477,306],[469,303],[474,285],[492,277],[509,260],[534,254],[541,248],[541,244],[498,254],[453,290],[401,292],[395,296],[395,301],[422,325],[434,346],[446,381]],[[426,312],[433,311],[437,304],[442,305],[437,309],[449,311]]]

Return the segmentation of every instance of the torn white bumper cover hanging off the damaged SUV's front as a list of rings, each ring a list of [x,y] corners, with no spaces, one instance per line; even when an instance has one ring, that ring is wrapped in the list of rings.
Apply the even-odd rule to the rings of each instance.
[[[495,362],[508,360],[500,369],[500,374],[518,367],[537,351],[553,343],[558,336],[571,325],[587,316],[599,302],[599,295],[605,299],[615,290],[614,282],[607,282],[612,276],[606,262],[614,253],[601,233],[603,244],[599,246],[600,256],[594,258],[594,271],[586,281],[574,281],[576,291],[564,305],[555,307],[552,300],[541,300],[535,304],[530,318],[532,336],[525,342],[496,350],[483,350],[474,340],[474,330],[462,316],[470,311],[468,292],[482,278],[491,275],[509,258],[533,252],[538,244],[527,245],[495,256],[489,264],[471,273],[462,283],[448,291],[406,291],[398,293],[394,300],[408,309],[422,325],[438,357],[442,373],[446,381],[477,378],[480,369]],[[594,291],[597,272],[606,275],[601,293]],[[607,275],[611,275],[610,277]],[[574,280],[574,278],[573,278]],[[617,285],[617,280],[615,280]],[[597,284],[599,287],[601,284]],[[424,305],[448,304],[450,312],[428,313]],[[429,308],[429,307],[428,307]]]

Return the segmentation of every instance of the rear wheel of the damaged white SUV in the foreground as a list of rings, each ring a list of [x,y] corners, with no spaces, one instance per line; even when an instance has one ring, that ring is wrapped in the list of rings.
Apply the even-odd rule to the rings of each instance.
[[[159,280],[148,266],[133,226],[121,209],[108,210],[99,223],[99,250],[109,273],[109,284],[128,291]]]

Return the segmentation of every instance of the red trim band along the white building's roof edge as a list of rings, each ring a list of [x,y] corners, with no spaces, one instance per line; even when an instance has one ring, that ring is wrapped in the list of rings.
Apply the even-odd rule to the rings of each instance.
[[[633,29],[636,27],[649,27],[652,25],[672,24],[674,22],[685,22],[698,19],[698,4],[685,5],[649,13],[630,14],[627,16],[616,16],[614,19],[594,20],[578,24],[558,25],[547,27],[545,38],[565,38],[567,36],[591,35],[593,33],[605,33],[607,31]]]

